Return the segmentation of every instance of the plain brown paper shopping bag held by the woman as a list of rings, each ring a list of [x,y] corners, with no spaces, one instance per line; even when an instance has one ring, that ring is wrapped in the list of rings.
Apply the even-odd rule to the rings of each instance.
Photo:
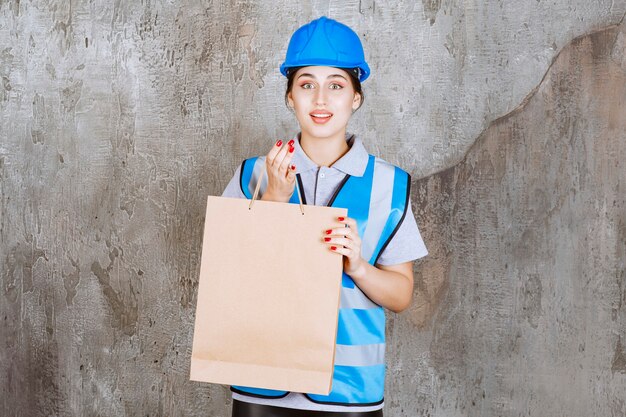
[[[328,394],[342,257],[323,231],[341,208],[209,197],[191,379]]]

